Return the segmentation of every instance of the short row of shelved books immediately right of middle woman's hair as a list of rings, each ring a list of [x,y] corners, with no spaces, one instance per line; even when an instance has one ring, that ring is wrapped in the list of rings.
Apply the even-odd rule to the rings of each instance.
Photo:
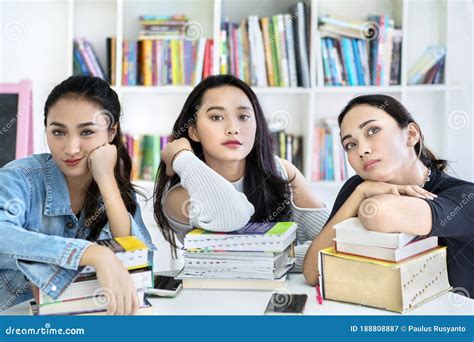
[[[285,131],[272,132],[273,147],[276,156],[293,163],[303,170],[303,137]]]

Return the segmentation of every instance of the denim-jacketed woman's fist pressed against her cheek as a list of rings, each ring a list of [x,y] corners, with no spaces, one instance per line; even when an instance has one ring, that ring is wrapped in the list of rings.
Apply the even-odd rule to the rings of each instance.
[[[88,165],[97,184],[115,177],[114,168],[117,163],[117,147],[104,144],[89,153]]]

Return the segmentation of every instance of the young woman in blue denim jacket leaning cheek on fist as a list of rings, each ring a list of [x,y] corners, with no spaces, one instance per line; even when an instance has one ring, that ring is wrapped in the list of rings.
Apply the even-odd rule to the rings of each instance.
[[[57,298],[91,265],[108,289],[108,313],[132,314],[134,284],[113,252],[93,241],[135,235],[153,248],[130,183],[117,94],[103,80],[72,76],[44,108],[51,154],[0,169],[0,311],[32,297]]]

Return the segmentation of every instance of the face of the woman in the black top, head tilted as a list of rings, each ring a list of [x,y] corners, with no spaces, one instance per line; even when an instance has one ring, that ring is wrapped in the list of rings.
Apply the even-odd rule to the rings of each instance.
[[[352,168],[365,180],[393,182],[415,156],[416,137],[384,110],[353,107],[341,123],[341,139]]]

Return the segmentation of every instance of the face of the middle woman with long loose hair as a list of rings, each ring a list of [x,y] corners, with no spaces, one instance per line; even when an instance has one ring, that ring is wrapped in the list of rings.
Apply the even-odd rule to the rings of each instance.
[[[204,93],[190,138],[202,144],[206,159],[241,161],[255,142],[257,122],[247,95],[223,86]]]

